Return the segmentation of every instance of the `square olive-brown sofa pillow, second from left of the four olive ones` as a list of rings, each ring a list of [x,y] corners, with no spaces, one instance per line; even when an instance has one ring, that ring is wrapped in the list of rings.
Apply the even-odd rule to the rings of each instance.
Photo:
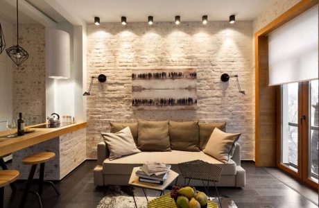
[[[139,121],[137,148],[142,151],[171,151],[169,121]]]

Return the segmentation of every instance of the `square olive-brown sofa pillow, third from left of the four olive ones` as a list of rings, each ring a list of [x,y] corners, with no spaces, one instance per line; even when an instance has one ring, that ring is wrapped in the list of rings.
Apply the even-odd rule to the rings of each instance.
[[[172,150],[198,152],[198,121],[169,121],[169,140]]]

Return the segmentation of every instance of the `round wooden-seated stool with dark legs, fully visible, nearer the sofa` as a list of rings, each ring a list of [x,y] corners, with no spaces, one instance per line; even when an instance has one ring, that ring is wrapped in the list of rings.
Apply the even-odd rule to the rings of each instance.
[[[34,155],[29,155],[27,157],[24,157],[24,159],[22,159],[23,164],[31,164],[32,166],[28,176],[28,180],[26,182],[26,187],[24,188],[24,194],[22,196],[19,207],[24,207],[24,205],[26,204],[26,198],[28,196],[28,192],[33,193],[35,194],[35,196],[37,196],[39,205],[40,207],[42,207],[40,196],[42,195],[42,191],[43,191],[43,182],[51,184],[51,186],[53,187],[55,192],[58,194],[58,196],[60,195],[59,191],[55,188],[55,185],[53,184],[53,182],[44,180],[44,164],[48,162],[49,160],[53,159],[54,157],[55,157],[55,153],[43,152],[43,153],[36,153]],[[29,189],[30,189],[33,177],[35,175],[35,170],[37,169],[37,164],[40,164],[40,175],[39,175],[38,189],[36,192],[36,191],[30,191]]]

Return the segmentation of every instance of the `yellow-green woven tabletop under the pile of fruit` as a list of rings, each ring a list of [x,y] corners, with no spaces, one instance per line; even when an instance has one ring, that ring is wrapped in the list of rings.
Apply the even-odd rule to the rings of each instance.
[[[148,208],[176,208],[173,198],[171,198],[171,192],[164,194],[163,196],[157,197],[147,204]],[[207,208],[218,208],[216,202],[208,200]]]

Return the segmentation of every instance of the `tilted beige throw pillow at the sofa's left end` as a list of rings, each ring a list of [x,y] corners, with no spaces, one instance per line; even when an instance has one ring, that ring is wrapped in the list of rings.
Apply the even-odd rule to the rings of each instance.
[[[129,127],[116,133],[101,133],[101,135],[110,151],[110,160],[141,153],[141,150],[137,149]]]

